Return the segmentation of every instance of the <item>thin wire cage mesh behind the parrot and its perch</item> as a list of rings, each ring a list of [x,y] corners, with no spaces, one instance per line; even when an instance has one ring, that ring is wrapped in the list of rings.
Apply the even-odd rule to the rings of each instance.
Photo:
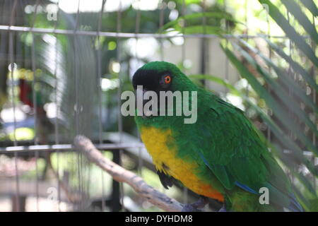
[[[0,211],[1,206],[13,211],[158,210],[92,166],[74,150],[73,137],[88,136],[106,157],[160,186],[133,119],[120,114],[120,95],[132,89],[131,75],[139,66],[170,61],[187,74],[213,74],[230,85],[238,84],[255,100],[249,83],[230,64],[220,43],[251,42],[274,61],[279,59],[264,37],[280,40],[290,56],[297,52],[289,37],[270,27],[266,7],[259,3],[263,36],[249,18],[249,7],[255,7],[251,1],[241,4],[245,21],[235,33],[232,4],[225,0],[1,1],[0,70],[6,77],[1,78],[1,88],[7,97],[0,102],[6,134],[0,137]],[[187,18],[191,13],[197,13],[194,21]],[[213,13],[223,16],[213,17]],[[288,10],[286,15],[292,20]],[[216,28],[227,32],[219,35]],[[303,37],[310,42],[308,35]],[[230,94],[230,86],[203,77],[199,82],[227,100],[238,101]],[[289,92],[293,96],[292,88]],[[314,103],[315,94],[309,95]],[[242,106],[242,101],[237,105]],[[269,108],[266,111],[273,116]],[[255,112],[247,113],[269,141],[278,140]],[[316,118],[313,121],[317,126]],[[292,131],[286,133],[293,136]],[[314,133],[308,136],[316,146]],[[305,155],[317,165],[311,152]],[[316,189],[315,177],[307,177]],[[196,197],[181,187],[164,192],[183,203]],[[209,208],[217,210],[220,203],[211,201]]]

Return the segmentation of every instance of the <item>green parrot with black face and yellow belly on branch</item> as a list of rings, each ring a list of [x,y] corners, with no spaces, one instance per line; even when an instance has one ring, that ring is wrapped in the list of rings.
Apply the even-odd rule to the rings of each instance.
[[[136,92],[142,85],[142,93],[158,96],[162,91],[196,91],[196,106],[189,98],[189,107],[196,107],[194,123],[184,123],[183,114],[156,116],[136,109],[135,115],[163,186],[167,189],[176,180],[201,196],[184,211],[199,210],[207,198],[223,202],[224,211],[302,211],[288,177],[242,110],[199,88],[165,61],[143,65],[132,83]]]

